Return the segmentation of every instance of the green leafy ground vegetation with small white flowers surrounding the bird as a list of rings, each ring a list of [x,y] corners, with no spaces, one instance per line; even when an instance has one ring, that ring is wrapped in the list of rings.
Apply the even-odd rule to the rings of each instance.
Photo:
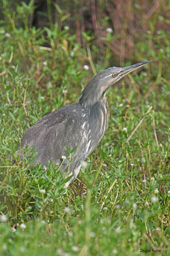
[[[44,28],[29,25],[33,1],[1,3],[1,256],[170,253],[170,2],[113,2],[92,0],[84,31],[70,29],[70,14],[55,2],[47,1]],[[59,14],[55,23],[51,9]],[[25,148],[20,159],[16,150],[27,128],[76,102],[114,59],[152,62],[108,90],[106,134],[66,188],[59,166],[29,167],[35,154],[27,158]]]

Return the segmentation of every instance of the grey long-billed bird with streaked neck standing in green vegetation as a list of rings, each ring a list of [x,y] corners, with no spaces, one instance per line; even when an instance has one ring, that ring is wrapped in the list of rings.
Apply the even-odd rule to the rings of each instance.
[[[49,166],[49,160],[60,169],[68,186],[78,175],[82,162],[94,151],[104,136],[109,123],[107,89],[125,75],[148,64],[110,67],[102,70],[86,85],[77,103],[65,105],[41,118],[27,129],[21,139],[20,153],[25,144],[37,151],[31,166]],[[70,151],[73,151],[70,155]]]

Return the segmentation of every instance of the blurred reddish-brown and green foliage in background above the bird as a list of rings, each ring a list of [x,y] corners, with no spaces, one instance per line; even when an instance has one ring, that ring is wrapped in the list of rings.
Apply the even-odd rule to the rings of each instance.
[[[59,24],[58,30],[64,26],[69,27],[69,34],[76,35],[75,42],[86,50],[84,32],[90,36],[95,54],[95,60],[105,56],[106,49],[111,56],[109,66],[122,65],[124,61],[137,61],[142,53],[143,58],[153,58],[154,49],[164,44],[164,38],[157,42],[154,36],[161,31],[169,30],[170,14],[168,0],[150,1],[115,1],[115,0],[89,0],[78,2],[76,0],[34,0],[11,1],[7,4],[2,0],[0,17],[8,28],[53,28]],[[111,27],[113,33],[107,34],[106,28]],[[42,30],[41,30],[42,32]],[[44,35],[47,36],[47,29]],[[40,36],[40,35],[36,35]],[[163,37],[163,36],[162,36]],[[31,39],[31,38],[30,38]],[[140,40],[139,40],[140,39]],[[148,40],[149,39],[149,40]],[[153,39],[153,40],[152,40]],[[147,41],[146,48],[136,44]],[[41,42],[42,43],[42,42]],[[49,42],[43,42],[49,45]],[[57,44],[57,42],[56,42]],[[57,46],[57,45],[56,45]],[[55,47],[56,47],[55,46]],[[168,53],[168,52],[166,52]],[[147,54],[147,56],[146,56]],[[104,58],[104,57],[103,57]],[[104,58],[105,59],[105,58]]]

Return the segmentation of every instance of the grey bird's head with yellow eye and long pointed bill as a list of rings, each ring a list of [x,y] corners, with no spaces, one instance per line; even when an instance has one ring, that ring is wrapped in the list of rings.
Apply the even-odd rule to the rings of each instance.
[[[93,106],[102,99],[110,86],[123,78],[123,76],[144,66],[150,61],[140,62],[123,68],[111,67],[99,72],[84,88],[78,104],[81,104],[83,108]]]

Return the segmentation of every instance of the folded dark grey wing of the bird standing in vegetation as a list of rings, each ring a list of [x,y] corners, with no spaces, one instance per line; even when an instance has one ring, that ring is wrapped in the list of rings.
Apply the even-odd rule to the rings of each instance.
[[[36,162],[48,166],[49,160],[60,164],[62,156],[68,157],[64,147],[72,150],[77,146],[75,152],[72,153],[72,163],[76,166],[76,162],[82,160],[82,152],[86,145],[86,138],[83,134],[86,128],[85,125],[83,126],[86,122],[84,113],[80,105],[70,104],[44,116],[23,136],[21,152],[26,142],[29,147],[37,150]],[[66,168],[68,161],[64,162]]]

